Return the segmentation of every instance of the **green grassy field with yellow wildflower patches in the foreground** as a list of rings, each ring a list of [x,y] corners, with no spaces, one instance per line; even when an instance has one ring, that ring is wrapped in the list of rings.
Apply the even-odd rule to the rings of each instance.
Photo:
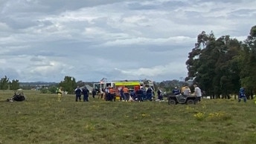
[[[14,143],[255,143],[256,105],[202,99],[167,102],[74,102],[74,95],[24,91],[25,102],[5,102],[0,91],[0,144]]]

